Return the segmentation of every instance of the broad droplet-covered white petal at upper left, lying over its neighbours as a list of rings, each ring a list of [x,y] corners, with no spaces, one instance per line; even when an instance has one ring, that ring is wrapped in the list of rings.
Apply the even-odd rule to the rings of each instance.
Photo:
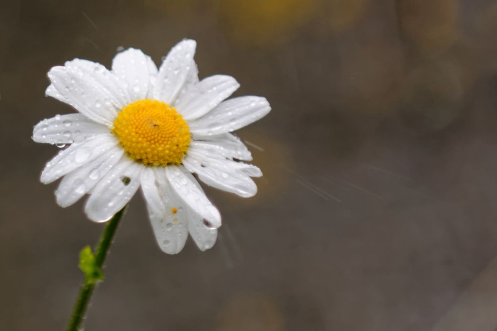
[[[48,77],[67,102],[89,119],[112,126],[117,116],[110,93],[99,82],[75,67],[56,66]]]

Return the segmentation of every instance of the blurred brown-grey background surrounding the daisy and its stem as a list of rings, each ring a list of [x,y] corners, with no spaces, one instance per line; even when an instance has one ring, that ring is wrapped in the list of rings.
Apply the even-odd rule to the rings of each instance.
[[[205,253],[162,253],[137,195],[86,330],[494,331],[496,35],[493,0],[1,1],[0,330],[63,330],[102,230],[39,183],[32,127],[72,111],[46,72],[189,37],[270,101],[238,132],[265,176],[207,189]]]

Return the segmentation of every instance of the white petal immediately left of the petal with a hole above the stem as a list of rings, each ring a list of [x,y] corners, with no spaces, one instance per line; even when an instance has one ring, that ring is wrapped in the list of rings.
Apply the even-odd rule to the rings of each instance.
[[[114,147],[95,160],[67,174],[55,191],[57,203],[67,207],[88,193],[121,159],[124,150]]]

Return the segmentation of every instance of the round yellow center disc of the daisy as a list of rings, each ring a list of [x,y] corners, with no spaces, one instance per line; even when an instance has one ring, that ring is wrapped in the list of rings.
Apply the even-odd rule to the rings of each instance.
[[[124,107],[112,132],[131,158],[148,166],[180,164],[191,140],[188,125],[176,109],[151,99]]]

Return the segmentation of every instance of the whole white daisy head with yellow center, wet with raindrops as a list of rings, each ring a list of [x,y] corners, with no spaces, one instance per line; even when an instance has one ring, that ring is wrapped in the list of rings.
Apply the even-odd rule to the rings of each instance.
[[[262,175],[233,132],[271,110],[263,97],[228,98],[240,86],[228,75],[199,81],[196,42],[183,40],[160,68],[138,49],[117,54],[112,69],[74,59],[48,72],[46,95],[78,113],[38,123],[33,140],[70,144],[41,174],[62,177],[57,203],[67,207],[88,194],[84,211],[105,222],[141,188],[157,242],[175,254],[188,233],[201,250],[211,248],[221,226],[218,209],[198,184],[251,197],[251,177]]]

